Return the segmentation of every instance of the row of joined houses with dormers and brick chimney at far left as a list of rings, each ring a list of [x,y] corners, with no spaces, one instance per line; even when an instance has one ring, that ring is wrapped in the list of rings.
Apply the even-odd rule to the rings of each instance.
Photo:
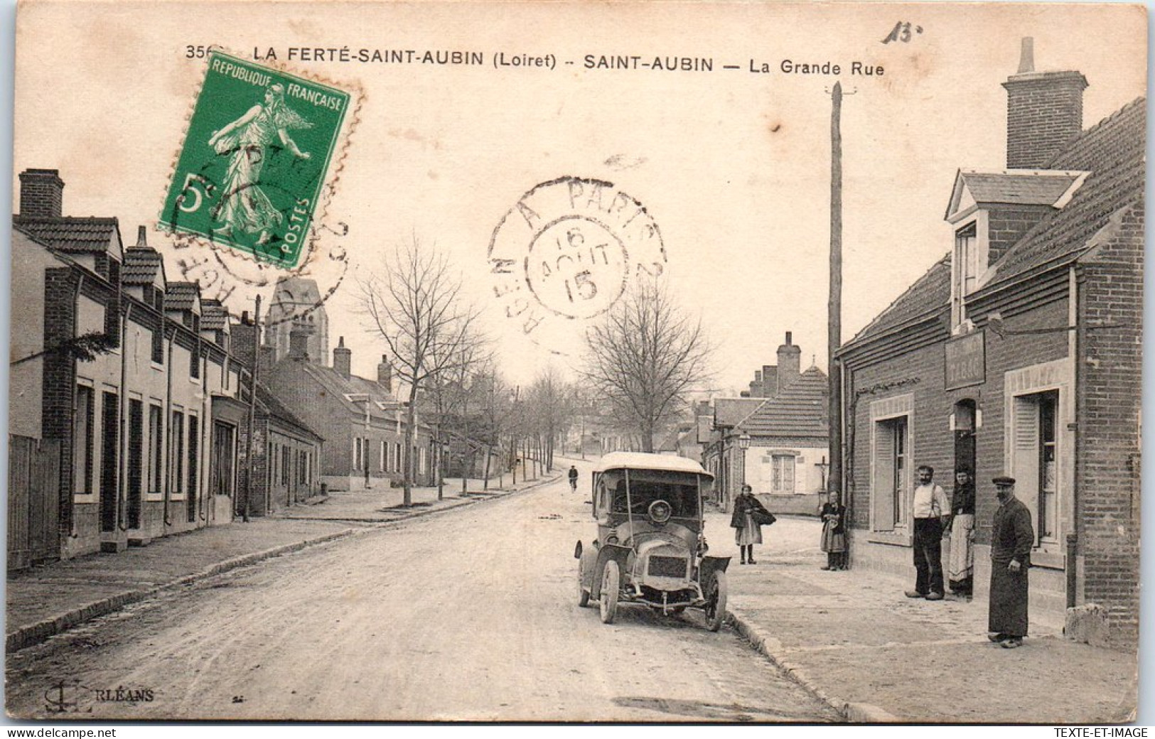
[[[13,219],[9,566],[232,520],[248,372],[229,313],[166,279],[139,231],[62,215],[55,170]]]

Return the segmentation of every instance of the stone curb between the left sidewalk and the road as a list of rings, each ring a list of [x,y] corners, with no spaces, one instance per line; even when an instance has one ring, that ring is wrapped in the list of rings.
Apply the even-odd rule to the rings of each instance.
[[[465,500],[464,502],[457,506],[434,508],[432,510],[416,510],[409,515],[400,516],[392,521],[382,522],[379,520],[374,520],[372,521],[372,523],[380,523],[382,525],[388,525],[392,523],[407,521],[409,518],[416,518],[419,516],[427,516],[434,513],[440,513],[442,510],[452,510],[453,508],[471,506],[474,503],[483,502],[486,500],[497,500],[499,498],[505,498],[506,495],[512,495],[513,493],[519,493],[526,490],[532,490],[541,485],[545,485],[546,483],[552,483],[557,479],[560,479],[560,477],[561,476],[559,475],[552,479],[542,480],[541,483],[535,483],[534,485],[529,485],[527,487],[522,487],[515,491],[500,491],[499,493],[495,493],[494,495],[487,498],[476,498],[472,500]],[[298,520],[312,521],[313,518],[298,518]],[[351,521],[351,520],[323,518],[323,521],[331,521],[334,523],[337,523],[341,521]],[[57,634],[62,634],[64,632],[67,632],[70,628],[80,626],[85,621],[90,621],[102,615],[109,615],[110,613],[120,611],[125,606],[139,603],[141,600],[144,600],[146,598],[164,592],[165,590],[171,590],[174,588],[180,588],[182,585],[188,585],[200,580],[206,580],[215,575],[221,575],[231,569],[237,569],[239,567],[245,567],[247,565],[254,565],[266,559],[271,559],[274,557],[280,557],[282,554],[290,554],[292,552],[298,552],[306,547],[316,546],[319,544],[326,544],[328,542],[334,542],[336,539],[341,539],[348,536],[353,536],[357,533],[366,533],[372,530],[373,529],[344,529],[342,531],[326,533],[311,539],[293,542],[291,544],[282,544],[280,546],[274,546],[271,548],[263,550],[261,552],[253,552],[249,554],[241,554],[239,557],[233,557],[232,559],[226,559],[223,562],[217,562],[215,565],[207,567],[206,569],[192,573],[189,575],[184,575],[181,577],[178,577],[170,582],[162,583],[159,585],[142,588],[140,590],[126,590],[125,592],[118,592],[117,595],[109,596],[99,600],[95,600],[92,603],[75,607],[70,611],[65,611],[64,613],[57,614],[49,619],[44,619],[43,621],[38,621],[36,624],[30,624],[28,626],[22,626],[17,628],[15,632],[5,635],[5,650],[7,654],[12,655],[13,652],[20,651],[21,649],[27,649],[28,647],[32,647],[35,644],[45,642],[52,636],[55,636]]]

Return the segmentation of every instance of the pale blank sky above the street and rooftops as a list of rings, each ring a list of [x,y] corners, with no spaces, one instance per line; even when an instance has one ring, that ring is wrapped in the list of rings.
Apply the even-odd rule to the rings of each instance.
[[[901,23],[909,40],[884,43]],[[835,82],[845,92],[847,341],[951,248],[942,218],[957,170],[1003,169],[1001,83],[1018,69],[1020,39],[1034,38],[1037,69],[1086,75],[1089,127],[1145,95],[1146,31],[1143,8],[1122,5],[40,1],[17,18],[14,209],[16,172],[58,169],[66,215],[116,216],[128,244],[147,225],[169,279],[181,279],[171,238],[152,227],[204,74],[195,47],[248,58],[273,48],[293,72],[360,99],[316,242],[318,254],[348,261],[307,270],[322,292],[344,274],[327,304],[329,336],[344,337],[355,372],[374,376],[383,346],[356,311],[353,277],[416,238],[460,273],[513,382],[551,365],[573,374],[582,322],[554,320],[527,338],[504,316],[486,259],[524,193],[572,176],[613,182],[644,206],[670,290],[716,348],[714,376],[698,389],[732,395],[776,361],[787,331],[803,368],[827,365]],[[344,46],[480,52],[484,62],[289,60],[290,47]],[[494,68],[499,52],[552,55],[556,67]],[[590,69],[587,55],[714,67]],[[785,73],[784,60],[840,74]],[[855,61],[882,73],[851,74]],[[225,259],[246,274],[245,257]],[[259,292],[238,285],[237,313]]]

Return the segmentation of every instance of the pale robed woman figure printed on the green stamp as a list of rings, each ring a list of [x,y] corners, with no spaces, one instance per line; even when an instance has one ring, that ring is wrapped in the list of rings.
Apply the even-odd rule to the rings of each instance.
[[[238,231],[255,233],[259,246],[268,244],[271,230],[284,216],[261,189],[261,167],[267,149],[280,141],[295,157],[307,159],[308,152],[301,151],[288,132],[310,126],[312,124],[285,105],[284,87],[273,84],[264,91],[263,103],[213,134],[209,145],[217,154],[230,157],[224,194],[213,211],[213,219],[223,224],[214,229],[216,233],[222,237],[232,237]]]

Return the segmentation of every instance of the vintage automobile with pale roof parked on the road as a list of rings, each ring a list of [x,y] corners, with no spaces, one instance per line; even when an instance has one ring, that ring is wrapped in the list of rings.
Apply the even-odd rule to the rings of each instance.
[[[610,624],[620,603],[664,614],[702,609],[725,620],[729,557],[708,557],[702,497],[713,476],[685,457],[614,451],[594,470],[597,538],[578,542],[578,605],[596,600]]]

